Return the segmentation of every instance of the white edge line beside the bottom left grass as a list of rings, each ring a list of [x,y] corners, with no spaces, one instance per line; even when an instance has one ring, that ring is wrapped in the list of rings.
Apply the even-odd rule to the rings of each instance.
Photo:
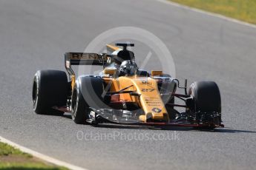
[[[61,160],[56,160],[55,158],[49,157],[49,156],[47,156],[45,154],[40,154],[39,152],[33,151],[32,149],[28,149],[28,148],[26,148],[24,146],[20,146],[19,144],[13,143],[12,141],[7,140],[7,139],[5,139],[4,137],[1,137],[1,136],[0,136],[0,142],[7,143],[10,146],[13,146],[13,147],[21,150],[22,152],[25,152],[27,154],[32,154],[34,157],[38,157],[39,159],[45,160],[48,163],[53,163],[56,166],[64,166],[64,167],[66,167],[68,169],[73,169],[73,170],[88,170],[88,169],[83,169],[83,168],[81,168],[79,166],[73,166],[70,163],[65,163],[65,162],[63,162]]]

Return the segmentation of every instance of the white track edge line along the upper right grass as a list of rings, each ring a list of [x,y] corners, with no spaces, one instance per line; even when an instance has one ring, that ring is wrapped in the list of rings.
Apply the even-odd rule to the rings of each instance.
[[[192,10],[192,11],[197,12],[197,13],[203,13],[203,14],[206,14],[208,16],[214,16],[214,17],[217,17],[217,18],[222,18],[226,21],[232,21],[232,22],[237,23],[237,24],[242,24],[242,25],[246,25],[246,26],[249,26],[249,27],[256,28],[255,24],[249,24],[247,22],[240,21],[240,20],[237,20],[237,19],[234,19],[234,18],[229,18],[227,16],[222,16],[222,15],[217,14],[217,13],[206,12],[205,10],[199,10],[197,8],[194,8],[194,7],[188,7],[186,5],[178,4],[178,3],[173,2],[173,1],[167,1],[167,0],[157,0],[157,1],[160,1],[160,2],[165,3],[165,4],[170,4],[170,5],[175,6],[175,7],[181,7],[181,8],[186,9],[186,10]]]

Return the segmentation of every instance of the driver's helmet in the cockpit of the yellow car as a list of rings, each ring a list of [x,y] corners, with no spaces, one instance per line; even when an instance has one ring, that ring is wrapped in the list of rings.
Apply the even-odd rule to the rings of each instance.
[[[131,61],[131,60],[122,61],[122,64],[119,67],[119,76],[136,75],[138,69],[139,68],[137,67],[137,64],[135,63],[135,61]]]

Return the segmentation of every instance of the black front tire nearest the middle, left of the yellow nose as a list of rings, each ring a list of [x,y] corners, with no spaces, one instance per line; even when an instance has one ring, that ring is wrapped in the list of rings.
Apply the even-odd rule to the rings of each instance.
[[[84,124],[90,118],[89,107],[100,109],[103,107],[103,82],[96,77],[79,77],[73,88],[71,99],[71,115],[77,124]]]

